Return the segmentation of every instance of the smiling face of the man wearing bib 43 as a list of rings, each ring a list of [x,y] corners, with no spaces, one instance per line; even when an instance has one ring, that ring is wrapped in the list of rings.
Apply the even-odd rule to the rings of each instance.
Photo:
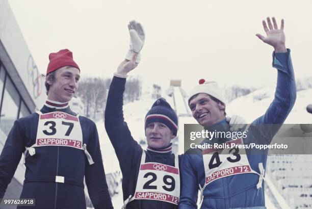
[[[208,94],[199,93],[189,102],[193,117],[204,127],[216,124],[224,119],[225,106],[214,101]]]

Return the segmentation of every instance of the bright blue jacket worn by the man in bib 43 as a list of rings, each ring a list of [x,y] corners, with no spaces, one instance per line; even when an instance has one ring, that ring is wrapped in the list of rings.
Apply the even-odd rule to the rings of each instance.
[[[278,72],[275,98],[266,113],[252,122],[254,125],[252,127],[261,127],[262,124],[277,125],[249,129],[247,137],[244,138],[244,144],[270,144],[294,106],[296,84],[289,49],[287,53],[273,53],[273,67],[277,68]],[[215,125],[218,126],[217,130],[229,131],[229,125],[225,120]],[[214,127],[210,128],[214,130]],[[185,154],[181,162],[183,185],[178,208],[197,208],[198,185],[204,186],[205,171],[202,152],[193,151],[194,154]],[[266,167],[267,154],[267,149],[257,154],[247,152],[248,161],[254,171],[259,173],[259,163],[263,163],[264,168]],[[216,179],[204,189],[201,208],[264,206],[264,181],[262,189],[258,192],[256,189],[258,178],[256,174],[245,173]]]

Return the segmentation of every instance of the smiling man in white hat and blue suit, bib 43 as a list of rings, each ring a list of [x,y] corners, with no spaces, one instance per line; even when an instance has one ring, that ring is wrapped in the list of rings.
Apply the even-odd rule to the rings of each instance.
[[[281,21],[278,29],[275,18],[272,20],[274,27],[270,18],[267,18],[269,29],[266,21],[263,21],[267,37],[256,36],[274,47],[273,67],[277,68],[274,100],[263,116],[255,119],[249,129],[248,126],[243,129],[248,130],[246,137],[237,140],[215,137],[211,141],[222,145],[270,144],[294,106],[296,84],[290,49],[285,47],[284,22]],[[189,107],[193,117],[205,129],[230,132],[229,124],[225,121],[225,101],[220,92],[215,82],[201,80],[190,95]],[[266,208],[264,175],[267,149],[258,150],[256,154],[244,148],[193,149],[189,152],[191,154],[185,154],[181,162],[183,185],[179,208],[197,208],[198,190],[201,208]]]

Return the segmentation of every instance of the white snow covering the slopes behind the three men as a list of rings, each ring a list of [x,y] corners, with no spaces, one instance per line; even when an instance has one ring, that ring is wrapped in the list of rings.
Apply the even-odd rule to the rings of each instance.
[[[135,140],[140,142],[145,141],[144,135],[144,118],[147,111],[152,106],[154,99],[150,98],[149,93],[143,94],[139,101],[127,103],[124,110],[124,118],[131,130],[132,136]],[[226,112],[230,116],[232,114],[240,115],[247,122],[252,122],[255,118],[265,113],[269,107],[270,102],[273,100],[274,89],[260,89],[252,92],[249,95],[239,97],[226,106]],[[172,97],[165,96],[168,102],[173,106]],[[259,98],[263,98],[259,100]],[[305,110],[306,106],[312,103],[312,89],[302,90],[297,92],[297,100],[295,106],[290,113],[285,123],[312,123],[312,115],[308,114]],[[196,123],[192,117],[179,117],[179,141],[178,153],[183,152],[183,130],[185,123]],[[103,155],[103,163],[106,173],[113,173],[120,171],[119,163],[114,151],[113,146],[106,134],[104,122],[100,121],[97,124],[99,133],[100,146]],[[113,197],[113,204],[115,208],[120,208],[122,205],[122,191],[119,188],[119,194]],[[268,209],[274,209],[275,206],[266,194],[266,206]]]

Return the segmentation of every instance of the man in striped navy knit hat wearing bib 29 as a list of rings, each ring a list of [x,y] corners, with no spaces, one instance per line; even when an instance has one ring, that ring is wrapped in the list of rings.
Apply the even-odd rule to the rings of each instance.
[[[128,29],[131,49],[114,73],[105,111],[105,128],[122,172],[123,208],[177,208],[180,157],[171,151],[178,127],[175,111],[164,98],[153,103],[144,123],[147,150],[134,140],[123,118],[127,73],[137,67],[145,39],[139,22],[131,21]]]

